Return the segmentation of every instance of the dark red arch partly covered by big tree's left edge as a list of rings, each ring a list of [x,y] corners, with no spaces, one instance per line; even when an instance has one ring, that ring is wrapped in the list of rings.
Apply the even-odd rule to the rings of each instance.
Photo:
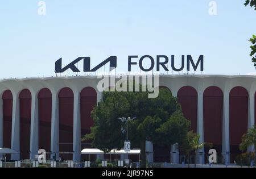
[[[93,126],[93,120],[91,117],[92,110],[97,104],[97,92],[92,87],[86,87],[81,90],[80,93],[80,117],[81,117],[81,138],[85,134],[90,133],[90,127]],[[88,145],[91,141],[81,141],[81,149],[91,147]],[[92,160],[96,156],[92,155]],[[81,156],[82,160],[86,159],[85,155]]]

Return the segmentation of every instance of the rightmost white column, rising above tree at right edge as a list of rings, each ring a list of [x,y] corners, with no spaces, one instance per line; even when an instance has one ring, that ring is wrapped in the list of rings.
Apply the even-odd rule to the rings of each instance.
[[[249,107],[248,107],[248,129],[254,126],[255,116],[254,116],[254,93],[249,96]],[[248,147],[248,151],[254,152],[254,145]]]

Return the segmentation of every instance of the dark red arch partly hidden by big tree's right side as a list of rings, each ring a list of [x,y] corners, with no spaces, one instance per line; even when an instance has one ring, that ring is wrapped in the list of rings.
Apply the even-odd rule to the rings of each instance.
[[[192,86],[183,86],[177,92],[178,102],[186,119],[191,121],[194,132],[197,129],[197,91]]]

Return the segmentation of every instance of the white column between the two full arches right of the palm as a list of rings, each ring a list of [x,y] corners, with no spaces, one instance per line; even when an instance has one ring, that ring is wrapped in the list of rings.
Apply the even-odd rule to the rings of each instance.
[[[229,146],[229,91],[224,91],[223,119],[222,119],[222,156],[226,163],[230,163]]]

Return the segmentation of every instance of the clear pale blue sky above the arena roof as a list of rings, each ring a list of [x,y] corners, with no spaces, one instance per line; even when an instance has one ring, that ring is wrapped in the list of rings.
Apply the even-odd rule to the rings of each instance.
[[[39,1],[0,0],[0,78],[55,76],[56,60],[65,66],[84,56],[92,67],[117,56],[117,72],[127,72],[129,55],[175,55],[177,66],[181,55],[204,55],[203,74],[256,74],[248,41],[256,11],[244,0],[214,1],[217,15],[208,0],[44,2],[40,15]]]

